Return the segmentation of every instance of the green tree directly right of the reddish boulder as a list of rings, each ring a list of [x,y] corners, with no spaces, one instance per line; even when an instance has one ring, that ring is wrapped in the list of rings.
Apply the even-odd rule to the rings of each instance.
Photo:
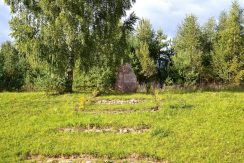
[[[167,36],[162,30],[155,32],[149,20],[140,20],[135,34],[129,40],[131,45],[129,58],[141,84],[154,82],[161,75],[156,71],[156,64],[161,49],[166,49],[168,46],[166,40]]]

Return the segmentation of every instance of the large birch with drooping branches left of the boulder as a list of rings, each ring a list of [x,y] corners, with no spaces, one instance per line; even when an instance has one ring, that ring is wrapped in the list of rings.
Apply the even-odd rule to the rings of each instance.
[[[112,52],[118,47],[118,40],[123,41],[128,23],[135,20],[131,15],[132,19],[119,27],[121,17],[135,0],[5,2],[14,13],[11,28],[18,50],[33,58],[33,62],[48,65],[50,76],[64,81],[64,92],[72,92],[77,61],[81,69],[89,69],[97,62],[118,62],[113,59],[111,63],[111,58],[121,58]],[[121,39],[117,39],[118,29]]]

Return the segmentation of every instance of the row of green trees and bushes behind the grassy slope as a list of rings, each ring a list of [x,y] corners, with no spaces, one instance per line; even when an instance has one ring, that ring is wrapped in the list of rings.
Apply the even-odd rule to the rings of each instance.
[[[1,45],[0,90],[106,91],[124,63],[148,87],[243,84],[244,13],[237,1],[203,26],[187,15],[173,39],[126,14],[135,0],[5,3],[14,42]]]

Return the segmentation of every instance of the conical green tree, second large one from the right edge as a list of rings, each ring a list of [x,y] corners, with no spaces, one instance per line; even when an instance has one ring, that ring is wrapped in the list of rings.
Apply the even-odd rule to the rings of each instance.
[[[187,16],[179,27],[175,41],[173,62],[181,80],[193,84],[199,79],[201,68],[201,30],[197,18]]]

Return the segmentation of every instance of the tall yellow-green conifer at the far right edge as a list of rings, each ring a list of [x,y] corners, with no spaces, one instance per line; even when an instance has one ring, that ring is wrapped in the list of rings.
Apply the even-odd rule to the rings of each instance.
[[[225,21],[220,21],[213,55],[214,71],[218,77],[226,83],[237,85],[243,78],[243,38],[240,20],[240,6],[233,2]]]

